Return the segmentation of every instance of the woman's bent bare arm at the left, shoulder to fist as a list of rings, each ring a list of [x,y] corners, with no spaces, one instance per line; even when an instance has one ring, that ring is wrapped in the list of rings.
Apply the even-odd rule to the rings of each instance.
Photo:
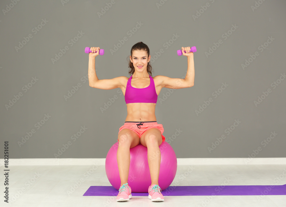
[[[99,47],[91,47],[90,50],[92,52],[89,53],[88,60],[88,81],[89,85],[93,88],[99,88],[104,90],[110,90],[114,88],[119,88],[122,85],[122,81],[124,80],[124,76],[112,78],[112,79],[103,79],[99,80],[96,76],[95,72],[95,57],[98,56],[100,48]],[[95,53],[96,52],[96,53]]]

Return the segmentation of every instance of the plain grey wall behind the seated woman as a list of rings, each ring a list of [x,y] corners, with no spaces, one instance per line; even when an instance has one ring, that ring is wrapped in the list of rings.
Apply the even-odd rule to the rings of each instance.
[[[89,86],[84,48],[105,50],[96,57],[99,79],[130,77],[126,58],[140,41],[150,48],[153,77],[184,78],[187,58],[176,50],[197,48],[194,86],[163,88],[156,105],[157,122],[178,158],[286,156],[286,1],[63,1],[0,2],[1,149],[9,141],[10,158],[54,158],[59,150],[58,158],[105,158],[126,104],[119,88]]]

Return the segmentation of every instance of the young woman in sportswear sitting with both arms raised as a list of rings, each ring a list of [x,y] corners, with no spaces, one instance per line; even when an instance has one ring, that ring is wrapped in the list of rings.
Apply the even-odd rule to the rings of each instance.
[[[99,80],[95,72],[94,57],[98,56],[99,47],[91,47],[88,63],[89,85],[93,88],[110,90],[121,88],[127,105],[125,123],[119,128],[117,163],[121,185],[117,201],[127,201],[132,198],[131,188],[128,185],[130,166],[130,148],[136,145],[147,147],[148,165],[150,169],[151,185],[148,198],[151,201],[164,201],[158,178],[160,170],[161,153],[159,146],[165,137],[162,124],[156,122],[155,106],[160,90],[165,88],[188,88],[194,85],[194,56],[190,47],[182,47],[182,54],[188,58],[186,77],[169,78],[166,76],[152,75],[150,65],[150,51],[146,44],[138,42],[131,48],[129,61],[130,78],[120,76],[113,79]],[[184,52],[186,51],[186,53]],[[178,68],[175,68],[178,70]],[[183,70],[181,70],[182,72]]]

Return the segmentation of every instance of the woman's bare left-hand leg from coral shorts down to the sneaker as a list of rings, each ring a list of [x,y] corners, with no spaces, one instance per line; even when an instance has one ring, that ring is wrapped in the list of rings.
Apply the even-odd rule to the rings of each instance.
[[[130,129],[122,129],[118,134],[118,150],[117,163],[119,176],[121,180],[120,186],[128,182],[128,174],[130,167],[130,148],[140,144],[140,137]]]

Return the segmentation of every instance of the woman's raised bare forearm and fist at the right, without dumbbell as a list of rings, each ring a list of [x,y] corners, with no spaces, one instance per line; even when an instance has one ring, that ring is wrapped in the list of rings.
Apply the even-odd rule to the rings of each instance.
[[[186,51],[186,53],[184,51]],[[194,53],[190,52],[190,47],[182,47],[182,55],[187,56],[188,60],[188,69],[185,80],[186,82],[189,82],[191,86],[193,86],[195,79]]]

